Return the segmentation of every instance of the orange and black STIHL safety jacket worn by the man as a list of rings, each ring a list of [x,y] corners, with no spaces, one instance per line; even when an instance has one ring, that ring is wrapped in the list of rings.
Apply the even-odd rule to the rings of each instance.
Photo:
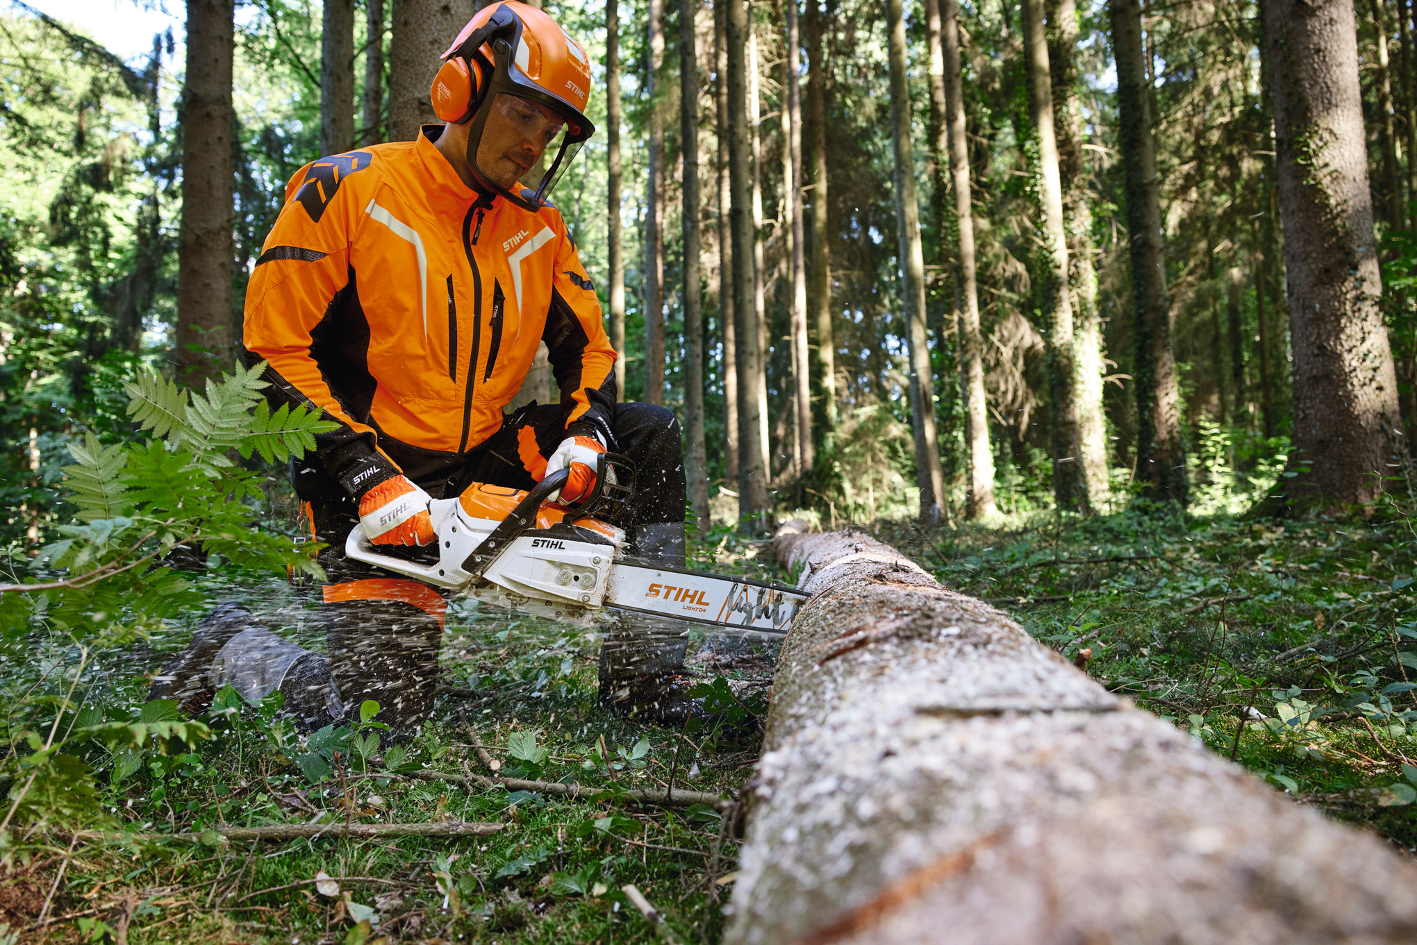
[[[614,442],[615,350],[560,211],[469,188],[441,133],[296,171],[247,288],[248,364],[339,424],[316,453],[354,497],[456,476],[543,340],[567,428]]]

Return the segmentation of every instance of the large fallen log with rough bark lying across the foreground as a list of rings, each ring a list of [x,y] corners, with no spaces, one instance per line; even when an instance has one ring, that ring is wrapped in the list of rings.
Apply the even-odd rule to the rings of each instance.
[[[854,533],[775,550],[778,657],[726,941],[1417,939],[1417,867]]]

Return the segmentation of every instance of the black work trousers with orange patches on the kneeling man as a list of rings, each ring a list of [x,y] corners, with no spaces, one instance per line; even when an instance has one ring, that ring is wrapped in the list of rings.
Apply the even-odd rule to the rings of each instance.
[[[679,421],[663,407],[618,404],[611,426],[616,442],[609,449],[628,456],[638,472],[635,496],[618,523],[633,545],[640,526],[684,520]],[[475,482],[531,489],[531,451],[547,458],[564,438],[561,408],[531,404],[509,415],[502,429],[469,451],[465,463],[445,466],[446,477],[418,486],[434,499],[458,496]],[[381,707],[380,721],[402,730],[418,725],[434,707],[444,595],[344,555],[344,538],[359,524],[359,506],[316,456],[293,462],[292,480],[296,494],[307,503],[316,537],[330,545],[320,554],[329,581],[317,591],[317,609],[340,700],[357,714],[360,704],[373,698]],[[683,662],[683,646],[670,636],[632,626],[609,630],[602,677],[642,674],[649,666],[673,672]]]

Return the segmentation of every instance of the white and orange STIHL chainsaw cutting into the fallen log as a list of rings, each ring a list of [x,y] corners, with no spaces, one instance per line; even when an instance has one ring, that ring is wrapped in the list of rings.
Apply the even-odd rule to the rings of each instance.
[[[360,526],[344,553],[366,564],[492,606],[577,626],[629,611],[733,630],[785,635],[806,594],[786,584],[708,574],[633,558],[614,523],[633,497],[635,466],[602,453],[595,487],[584,502],[547,499],[570,477],[548,473],[530,492],[472,483],[428,511],[438,534],[436,560],[376,548]]]

